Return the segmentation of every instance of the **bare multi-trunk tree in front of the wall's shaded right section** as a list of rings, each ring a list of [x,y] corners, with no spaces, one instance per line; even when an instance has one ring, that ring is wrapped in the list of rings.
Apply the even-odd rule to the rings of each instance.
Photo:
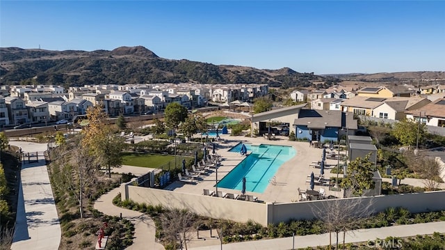
[[[329,231],[329,249],[332,247],[332,232],[336,235],[336,249],[339,248],[339,233],[343,232],[344,247],[346,231],[353,229],[357,220],[371,216],[372,204],[372,198],[345,198],[320,201],[311,205],[316,218],[323,221]]]

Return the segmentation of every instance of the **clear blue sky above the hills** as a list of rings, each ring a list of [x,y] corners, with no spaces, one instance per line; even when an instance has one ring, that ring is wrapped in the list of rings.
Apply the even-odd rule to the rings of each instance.
[[[445,1],[0,1],[0,47],[298,72],[445,70]]]

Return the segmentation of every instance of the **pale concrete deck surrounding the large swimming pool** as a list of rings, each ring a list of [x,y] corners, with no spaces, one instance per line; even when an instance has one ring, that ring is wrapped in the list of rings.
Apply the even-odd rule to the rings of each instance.
[[[295,157],[285,162],[277,173],[275,173],[275,180],[270,182],[264,193],[246,192],[257,196],[259,201],[273,202],[273,203],[288,203],[298,201],[298,187],[302,190],[309,189],[309,183],[306,182],[307,175],[314,171],[315,175],[320,173],[320,169],[314,169],[309,166],[312,162],[321,160],[322,149],[309,147],[308,142],[289,141],[286,136],[277,136],[275,140],[266,140],[263,137],[250,138],[245,136],[229,136],[227,134],[221,135],[221,138],[225,142],[217,143],[216,154],[223,158],[220,167],[218,168],[218,180],[223,179],[227,173],[232,171],[234,167],[240,163],[245,156],[239,153],[228,152],[230,148],[236,146],[240,141],[245,143],[252,143],[253,145],[270,144],[280,146],[292,146],[296,150]],[[329,152],[330,150],[327,150]],[[344,153],[344,152],[343,152]],[[337,159],[326,159],[326,165],[336,165]],[[329,167],[325,169],[325,178],[330,178],[333,174],[330,173]],[[208,175],[201,175],[202,178],[198,180],[197,185],[184,185],[181,182],[173,182],[165,189],[174,192],[184,192],[189,194],[202,194],[203,189],[209,189],[215,191],[216,188],[216,171],[209,173]],[[337,174],[335,174],[337,176]],[[341,175],[340,175],[341,176]],[[342,176],[341,176],[342,177]],[[319,190],[320,186],[315,186],[314,190]],[[334,195],[340,196],[338,192],[330,191],[325,187],[327,196]],[[241,194],[239,190],[224,189],[218,187],[218,191]]]

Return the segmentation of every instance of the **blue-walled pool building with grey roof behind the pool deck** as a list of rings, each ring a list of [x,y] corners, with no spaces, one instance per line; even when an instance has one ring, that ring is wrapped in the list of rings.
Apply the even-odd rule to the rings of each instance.
[[[309,141],[339,141],[341,136],[355,134],[357,120],[351,113],[337,110],[301,109],[293,122],[296,138]]]

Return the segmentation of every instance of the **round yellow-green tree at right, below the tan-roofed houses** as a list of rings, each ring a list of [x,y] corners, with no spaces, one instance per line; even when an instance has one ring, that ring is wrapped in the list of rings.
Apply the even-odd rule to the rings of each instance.
[[[394,125],[391,134],[396,138],[402,145],[416,145],[417,135],[419,134],[419,143],[425,138],[426,125],[421,123],[419,128],[419,123],[413,123],[411,120],[401,120],[399,123]]]

